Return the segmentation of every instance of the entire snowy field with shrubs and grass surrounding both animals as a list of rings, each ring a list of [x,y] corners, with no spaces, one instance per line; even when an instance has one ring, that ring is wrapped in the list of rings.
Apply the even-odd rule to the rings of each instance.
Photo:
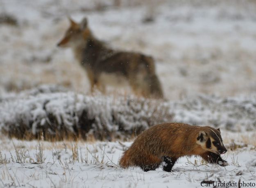
[[[68,16],[154,57],[165,99],[91,94],[72,51],[56,47]],[[256,186],[255,0],[1,0],[0,41],[0,187]],[[229,166],[184,157],[173,172],[121,169],[136,133],[163,121],[221,128]],[[42,130],[96,140],[7,137]]]

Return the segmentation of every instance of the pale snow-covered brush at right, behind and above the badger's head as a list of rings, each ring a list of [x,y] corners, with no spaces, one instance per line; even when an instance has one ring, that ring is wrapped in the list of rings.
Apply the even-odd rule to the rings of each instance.
[[[210,125],[232,131],[255,130],[256,96],[217,97],[198,95],[170,102],[174,121]]]

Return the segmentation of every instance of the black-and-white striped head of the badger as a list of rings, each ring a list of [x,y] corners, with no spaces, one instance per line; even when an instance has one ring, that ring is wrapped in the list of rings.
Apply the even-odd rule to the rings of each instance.
[[[220,129],[212,127],[202,127],[197,137],[197,144],[200,145],[204,150],[216,153],[224,154],[227,149],[222,143],[220,135]]]

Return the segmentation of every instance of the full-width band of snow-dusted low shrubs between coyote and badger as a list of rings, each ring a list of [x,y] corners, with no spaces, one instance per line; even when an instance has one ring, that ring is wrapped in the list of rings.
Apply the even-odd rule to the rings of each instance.
[[[0,130],[9,136],[46,139],[93,136],[129,138],[152,125],[181,122],[227,130],[255,130],[256,96],[199,95],[180,101],[134,96],[83,95],[46,86],[0,97]]]

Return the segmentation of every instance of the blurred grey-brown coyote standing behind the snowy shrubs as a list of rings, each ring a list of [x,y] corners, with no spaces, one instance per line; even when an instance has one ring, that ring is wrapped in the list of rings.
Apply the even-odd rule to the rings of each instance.
[[[86,69],[91,91],[94,86],[104,92],[103,74],[115,76],[116,81],[128,81],[135,94],[163,98],[161,83],[156,76],[154,60],[136,52],[116,51],[95,38],[88,27],[87,18],[76,23],[71,18],[70,27],[59,47],[71,47],[75,57]],[[123,79],[124,78],[124,79]]]

